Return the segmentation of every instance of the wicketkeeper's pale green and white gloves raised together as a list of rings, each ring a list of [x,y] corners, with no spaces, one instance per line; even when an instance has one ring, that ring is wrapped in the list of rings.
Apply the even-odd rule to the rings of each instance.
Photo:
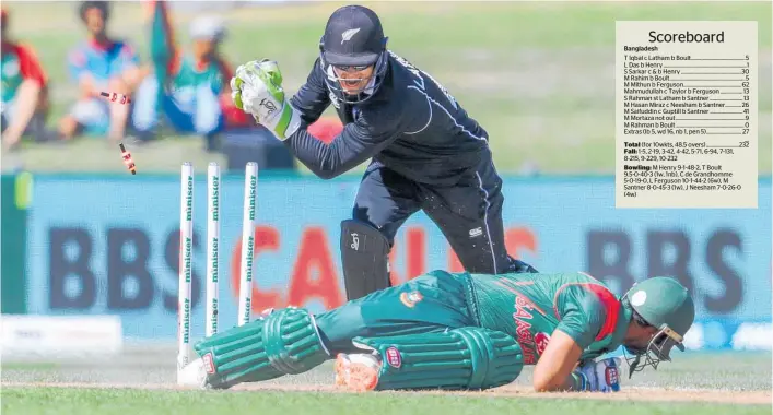
[[[236,68],[231,79],[234,105],[285,140],[301,126],[301,116],[284,96],[282,73],[276,61],[254,60]]]

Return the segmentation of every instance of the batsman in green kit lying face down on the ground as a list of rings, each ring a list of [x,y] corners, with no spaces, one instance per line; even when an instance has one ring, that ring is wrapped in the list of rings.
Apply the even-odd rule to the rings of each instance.
[[[537,391],[620,389],[624,346],[632,375],[670,360],[695,316],[676,280],[653,277],[617,298],[584,273],[433,271],[313,315],[272,310],[195,344],[184,386],[226,389],[297,375],[336,359],[336,383],[366,390],[483,390],[536,365]],[[644,359],[644,361],[642,361]]]

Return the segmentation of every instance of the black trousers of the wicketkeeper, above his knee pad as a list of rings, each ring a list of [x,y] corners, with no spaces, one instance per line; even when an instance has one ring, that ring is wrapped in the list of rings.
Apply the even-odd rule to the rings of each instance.
[[[454,186],[430,186],[373,162],[363,176],[352,218],[371,224],[394,244],[395,234],[419,210],[441,228],[471,273],[515,271],[502,224],[502,179],[491,157],[459,176]]]

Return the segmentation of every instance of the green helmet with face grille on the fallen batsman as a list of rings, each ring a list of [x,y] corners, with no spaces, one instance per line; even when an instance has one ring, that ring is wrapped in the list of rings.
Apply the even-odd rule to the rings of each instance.
[[[695,320],[695,305],[677,280],[656,276],[642,281],[634,284],[621,300],[623,307],[632,310],[639,324],[658,329],[646,348],[625,346],[629,378],[647,366],[657,369],[660,361],[670,361],[674,346],[684,352],[684,334]],[[644,364],[640,365],[642,357]]]

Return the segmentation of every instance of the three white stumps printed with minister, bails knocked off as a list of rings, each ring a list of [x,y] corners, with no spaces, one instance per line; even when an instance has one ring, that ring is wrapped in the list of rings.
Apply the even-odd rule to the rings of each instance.
[[[207,168],[207,277],[204,335],[218,333],[220,300],[220,202],[221,174],[218,163]],[[253,257],[255,252],[255,218],[258,193],[258,164],[245,167],[244,204],[242,215],[242,266],[237,324],[249,322],[253,303]],[[191,276],[194,247],[194,166],[184,163],[180,176],[180,266],[177,303],[177,375],[189,363]]]

